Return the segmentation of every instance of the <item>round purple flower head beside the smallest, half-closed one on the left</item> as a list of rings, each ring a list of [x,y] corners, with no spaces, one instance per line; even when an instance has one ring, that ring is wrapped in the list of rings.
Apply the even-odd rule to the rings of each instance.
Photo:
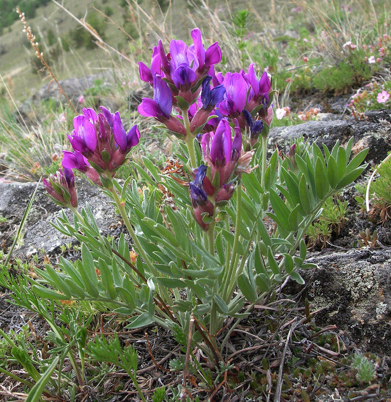
[[[133,126],[126,133],[118,112],[112,114],[103,106],[101,111],[96,115],[94,110],[84,108],[83,114],[73,119],[74,130],[68,138],[74,151],[80,152],[95,169],[114,176],[129,151],[139,143],[140,132]]]

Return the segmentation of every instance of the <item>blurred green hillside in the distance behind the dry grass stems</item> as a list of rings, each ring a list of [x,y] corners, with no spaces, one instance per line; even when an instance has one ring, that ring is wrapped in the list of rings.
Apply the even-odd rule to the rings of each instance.
[[[201,1],[64,0],[61,4],[76,18],[92,26],[107,44],[134,60],[133,66],[129,62],[124,66],[120,56],[113,57],[113,53],[108,54],[97,47],[77,21],[50,0],[0,0],[0,74],[17,103],[48,80],[46,73],[38,72],[41,62],[22,32],[23,26],[15,11],[18,5],[58,79],[96,74],[113,67],[133,67],[136,71],[137,61],[150,57],[150,48],[162,34],[157,31],[163,21],[170,30],[165,32],[167,38],[180,36],[188,40],[189,31],[196,26],[193,19],[197,20],[198,26],[209,26],[213,31],[210,21],[203,21],[200,14]],[[220,19],[227,22],[231,12],[250,7],[249,3],[238,0],[211,0],[205,5],[216,10]],[[251,5],[259,13],[266,8],[264,0],[251,2]],[[0,80],[0,96],[6,94],[4,83]]]

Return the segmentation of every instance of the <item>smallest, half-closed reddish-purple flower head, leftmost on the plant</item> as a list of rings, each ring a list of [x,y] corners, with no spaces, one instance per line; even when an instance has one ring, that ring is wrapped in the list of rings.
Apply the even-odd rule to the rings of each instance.
[[[71,206],[77,208],[75,176],[72,169],[66,167],[60,168],[57,173],[49,176],[49,180],[43,178],[42,182],[56,204],[61,207]]]

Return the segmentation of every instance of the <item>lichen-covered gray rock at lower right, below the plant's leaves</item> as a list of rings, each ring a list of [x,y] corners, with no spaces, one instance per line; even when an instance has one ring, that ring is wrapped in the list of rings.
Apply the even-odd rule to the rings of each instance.
[[[357,249],[313,253],[315,270],[301,271],[306,285],[290,283],[292,295],[303,291],[319,326],[335,324],[362,350],[391,350],[391,250]],[[303,289],[304,287],[304,289]]]

